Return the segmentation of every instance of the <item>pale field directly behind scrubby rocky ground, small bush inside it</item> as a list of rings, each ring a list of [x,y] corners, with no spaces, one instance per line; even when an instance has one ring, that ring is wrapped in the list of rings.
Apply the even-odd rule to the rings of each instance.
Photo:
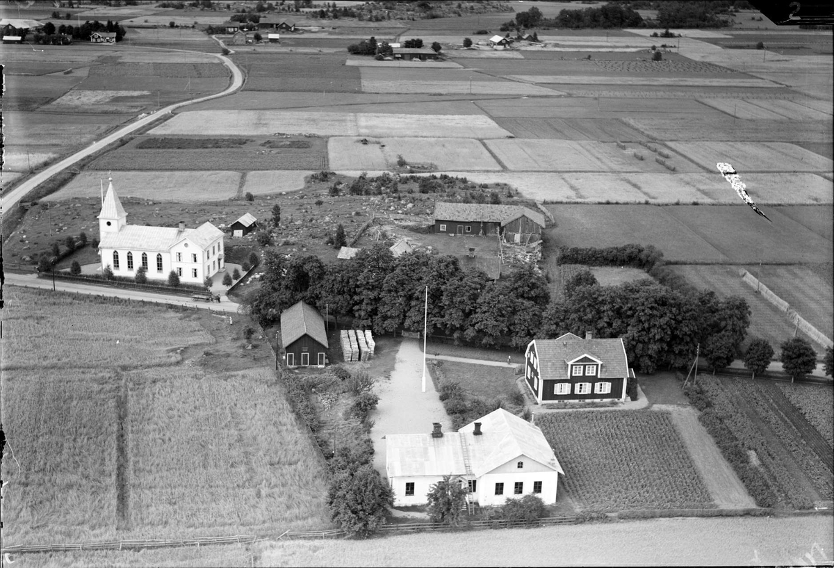
[[[479,140],[470,138],[330,138],[329,164],[333,169],[403,169],[408,164],[440,169],[500,170]],[[405,161],[399,166],[399,157]]]

